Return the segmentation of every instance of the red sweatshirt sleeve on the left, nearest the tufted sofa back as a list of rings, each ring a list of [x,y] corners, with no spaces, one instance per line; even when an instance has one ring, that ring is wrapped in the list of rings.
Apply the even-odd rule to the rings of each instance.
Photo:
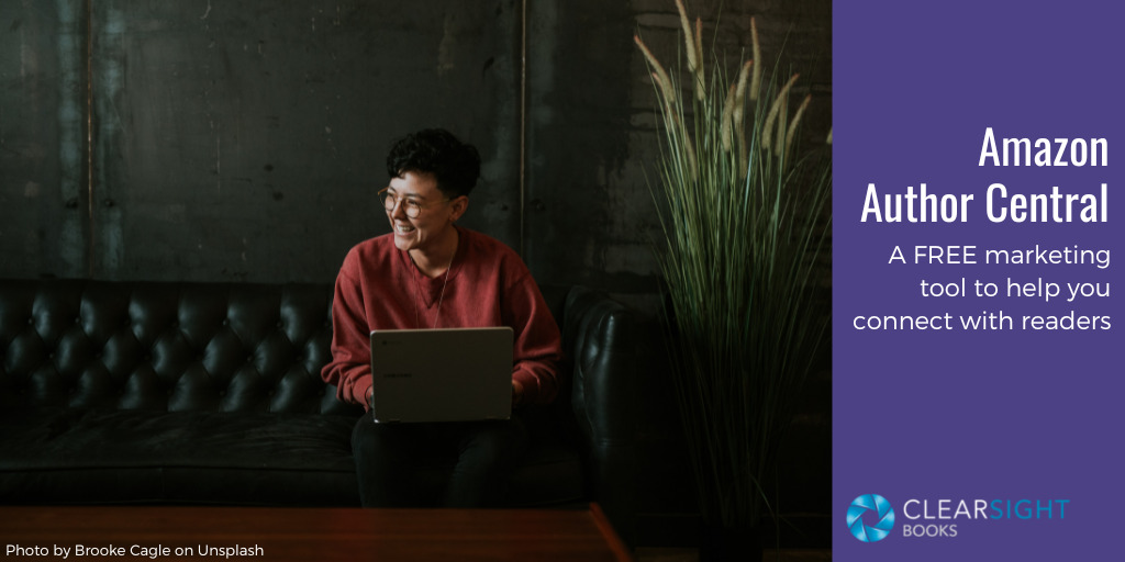
[[[336,386],[336,398],[341,401],[360,404],[367,409],[370,408],[367,391],[371,388],[371,330],[363,316],[360,277],[353,251],[344,259],[336,277],[332,300],[332,361],[321,371],[321,377]]]

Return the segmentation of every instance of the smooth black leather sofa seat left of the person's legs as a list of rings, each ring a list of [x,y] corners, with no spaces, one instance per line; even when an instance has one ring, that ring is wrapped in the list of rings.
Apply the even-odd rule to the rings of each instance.
[[[0,416],[0,502],[354,505],[344,416],[24,410]]]

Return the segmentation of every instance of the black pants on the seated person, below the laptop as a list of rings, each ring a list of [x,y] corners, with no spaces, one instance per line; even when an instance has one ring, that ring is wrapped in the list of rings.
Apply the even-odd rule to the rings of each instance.
[[[497,506],[526,446],[518,413],[510,420],[376,424],[369,411],[352,430],[364,507]]]

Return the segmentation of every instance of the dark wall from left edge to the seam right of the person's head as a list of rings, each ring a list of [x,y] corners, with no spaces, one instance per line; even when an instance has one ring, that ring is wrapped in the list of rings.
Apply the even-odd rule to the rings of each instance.
[[[3,2],[0,27],[0,275],[331,282],[429,126],[485,160],[465,224],[519,244],[514,0]]]

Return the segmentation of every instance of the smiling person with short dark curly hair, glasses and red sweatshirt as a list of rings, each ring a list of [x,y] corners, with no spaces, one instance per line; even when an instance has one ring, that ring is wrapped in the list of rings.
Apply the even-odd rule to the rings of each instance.
[[[558,393],[561,338],[528,268],[511,248],[459,227],[480,173],[475,147],[428,129],[398,140],[387,156],[379,198],[392,233],[353,247],[336,278],[332,362],[322,377],[368,413],[352,433],[360,498],[370,507],[429,502],[420,469],[448,466],[440,504],[502,501],[526,446],[519,407]],[[370,413],[372,329],[508,326],[514,334],[512,419],[379,425]],[[435,350],[435,353],[441,353]]]

